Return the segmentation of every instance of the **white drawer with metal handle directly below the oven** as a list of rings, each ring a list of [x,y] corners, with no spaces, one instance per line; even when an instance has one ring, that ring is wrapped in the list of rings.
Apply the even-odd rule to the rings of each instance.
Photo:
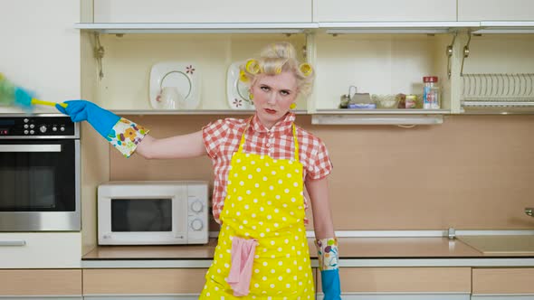
[[[80,232],[0,233],[0,268],[81,267]]]

